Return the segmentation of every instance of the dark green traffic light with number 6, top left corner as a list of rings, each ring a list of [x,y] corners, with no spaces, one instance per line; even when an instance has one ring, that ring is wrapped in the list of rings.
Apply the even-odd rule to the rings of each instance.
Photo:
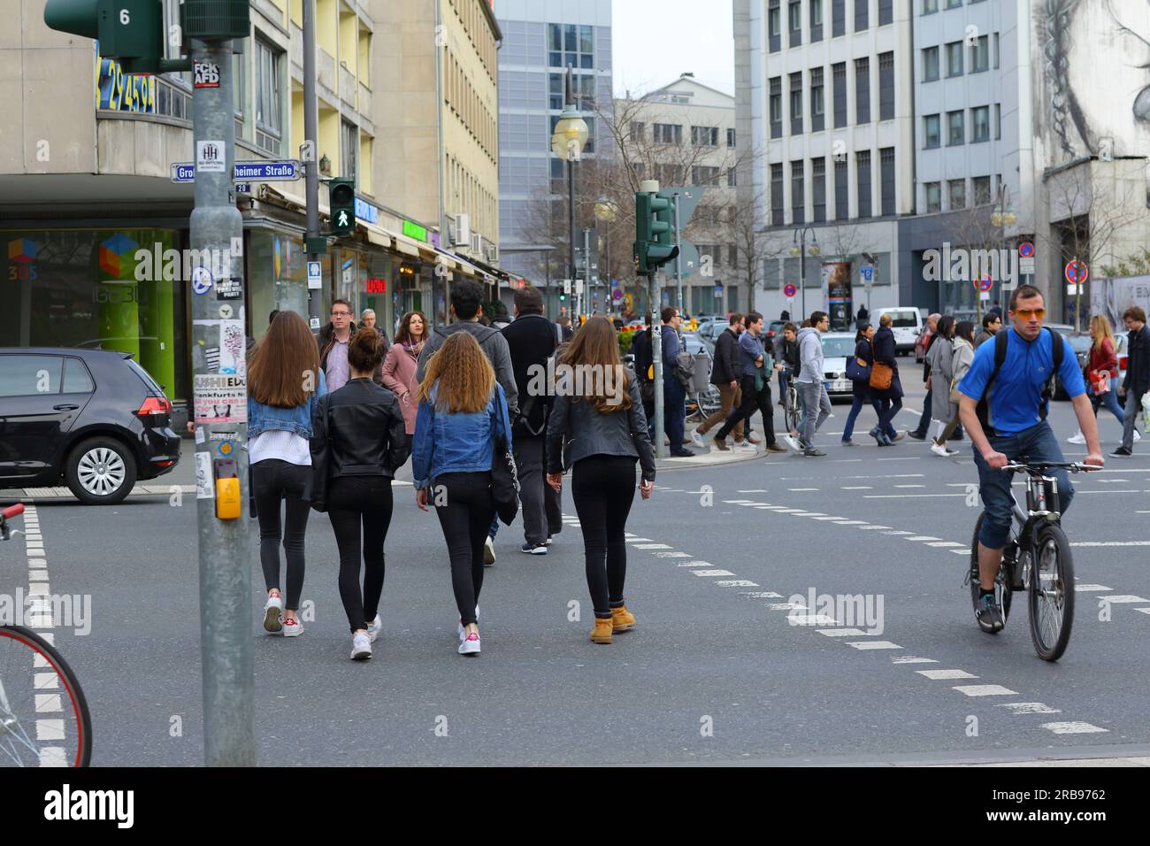
[[[49,29],[95,38],[100,55],[117,59],[128,74],[159,74],[163,62],[161,0],[47,0]]]

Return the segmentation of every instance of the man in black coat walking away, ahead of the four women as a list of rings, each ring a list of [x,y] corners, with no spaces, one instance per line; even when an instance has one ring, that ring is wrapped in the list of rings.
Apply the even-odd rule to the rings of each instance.
[[[538,288],[515,291],[515,320],[503,335],[511,351],[511,367],[519,390],[519,416],[512,427],[519,497],[523,505],[523,546],[521,551],[546,555],[551,535],[562,527],[560,495],[546,483],[544,440],[551,410],[547,359],[560,343],[562,327],[543,317],[543,296]]]

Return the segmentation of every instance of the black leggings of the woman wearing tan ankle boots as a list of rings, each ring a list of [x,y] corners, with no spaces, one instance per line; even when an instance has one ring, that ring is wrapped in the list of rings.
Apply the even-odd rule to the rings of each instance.
[[[623,605],[627,580],[627,515],[635,501],[635,463],[629,456],[589,456],[575,462],[572,496],[583,529],[586,586],[596,617]]]

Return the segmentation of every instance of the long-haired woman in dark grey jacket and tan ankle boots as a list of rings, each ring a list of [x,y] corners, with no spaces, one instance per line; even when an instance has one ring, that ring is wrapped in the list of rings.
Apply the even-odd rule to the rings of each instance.
[[[569,448],[572,494],[583,529],[586,585],[595,605],[591,640],[610,643],[613,632],[635,625],[627,610],[627,516],[638,489],[646,500],[654,489],[654,455],[646,436],[638,380],[619,357],[615,329],[605,317],[592,317],[576,334],[561,365],[555,401],[547,421],[547,483],[562,486],[564,441]],[[568,369],[569,368],[569,369]]]

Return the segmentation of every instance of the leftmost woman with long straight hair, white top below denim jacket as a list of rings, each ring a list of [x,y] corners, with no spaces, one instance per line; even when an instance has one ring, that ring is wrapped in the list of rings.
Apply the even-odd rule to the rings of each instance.
[[[260,521],[260,565],[268,589],[263,628],[282,631],[285,638],[304,632],[297,610],[304,590],[304,535],[310,511],[308,439],[312,414],[324,389],[320,351],[307,323],[296,312],[279,312],[247,364],[247,459]],[[279,579],[281,540],[288,558],[286,608]]]

